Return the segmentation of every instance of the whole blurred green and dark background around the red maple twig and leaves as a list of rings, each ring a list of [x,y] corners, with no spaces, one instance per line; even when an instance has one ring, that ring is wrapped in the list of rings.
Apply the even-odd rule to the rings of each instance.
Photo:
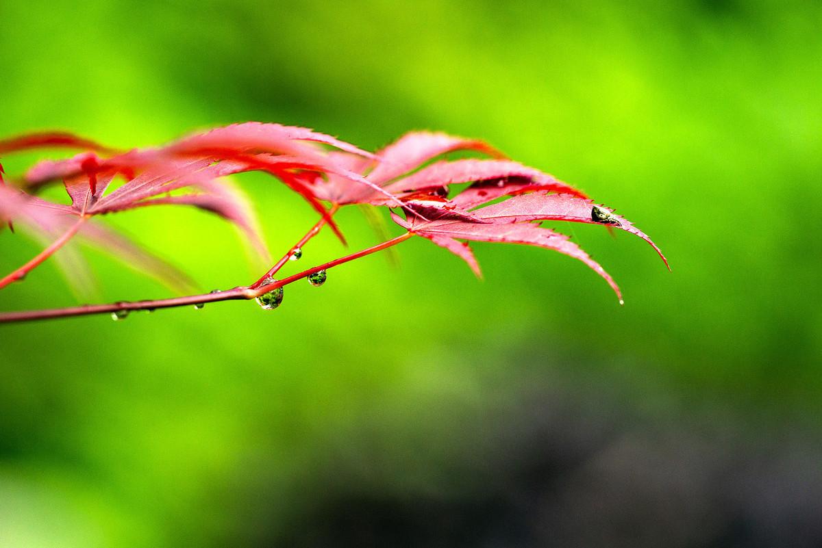
[[[411,240],[275,312],[2,326],[0,546],[820,546],[820,29],[819,2],[2,0],[2,137],[444,130],[617,208],[673,272],[567,226],[624,308],[557,253],[477,244],[477,281]],[[275,254],[316,220],[238,180]],[[205,290],[259,272],[208,214],[109,221]],[[38,249],[0,245],[3,273]],[[99,299],[169,295],[85,256]],[[74,303],[53,265],[0,294]]]

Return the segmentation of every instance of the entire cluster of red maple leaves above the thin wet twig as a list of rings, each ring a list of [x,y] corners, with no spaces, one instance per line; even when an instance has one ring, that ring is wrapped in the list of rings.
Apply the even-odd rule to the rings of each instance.
[[[333,218],[340,207],[388,208],[404,231],[455,253],[478,275],[469,241],[528,244],[579,259],[620,295],[603,267],[566,235],[540,226],[540,221],[585,222],[628,231],[649,242],[665,261],[647,235],[580,190],[513,162],[482,141],[441,133],[412,132],[370,153],[316,131],[248,122],[127,151],[67,133],[25,135],[0,141],[0,155],[54,147],[81,153],[39,162],[7,182],[0,166],[2,226],[20,222],[44,240],[53,240],[54,249],[44,250],[44,258],[79,235],[178,290],[192,285],[186,275],[95,218],[158,205],[201,208],[238,226],[268,258],[247,196],[225,179],[245,171],[266,172],[298,193],[342,241]],[[446,158],[455,151],[484,158]],[[60,181],[70,204],[35,195]],[[29,269],[7,276],[0,288]]]

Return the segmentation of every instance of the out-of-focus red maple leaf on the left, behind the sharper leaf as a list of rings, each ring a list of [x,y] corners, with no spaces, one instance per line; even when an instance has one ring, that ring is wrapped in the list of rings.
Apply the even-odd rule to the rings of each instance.
[[[329,135],[304,128],[256,122],[217,128],[162,147],[134,149],[125,153],[116,153],[113,148],[65,133],[25,135],[0,142],[0,151],[17,152],[55,145],[89,148],[91,151],[65,160],[39,162],[25,175],[25,188],[28,190],[38,190],[55,180],[62,180],[72,200],[71,205],[37,199],[23,190],[10,190],[0,197],[0,212],[4,219],[19,217],[29,221],[44,237],[70,233],[68,239],[77,232],[81,235],[89,233],[90,217],[153,205],[189,205],[214,212],[233,222],[267,258],[266,246],[256,228],[258,223],[247,199],[239,190],[217,179],[244,171],[266,171],[307,199],[342,239],[326,207],[316,198],[302,174],[333,173],[347,178],[353,185],[366,188],[371,183],[363,176],[338,166],[318,144],[339,148],[359,158],[375,158],[372,153]],[[113,154],[101,157],[98,153]],[[124,176],[127,182],[106,194],[116,176]],[[378,187],[375,189],[380,191]],[[188,192],[169,194],[179,190]],[[384,196],[390,198],[390,194],[385,193]],[[396,204],[399,205],[399,201]],[[72,217],[75,219],[73,223],[70,221]],[[96,240],[105,243],[101,241],[103,232],[97,231],[95,234]],[[109,245],[109,248],[118,252],[124,249],[124,245],[120,242]],[[130,249],[128,255],[133,259],[137,253]],[[175,271],[169,272],[166,277],[179,280],[182,276]],[[0,282],[0,287],[9,281],[13,280]]]

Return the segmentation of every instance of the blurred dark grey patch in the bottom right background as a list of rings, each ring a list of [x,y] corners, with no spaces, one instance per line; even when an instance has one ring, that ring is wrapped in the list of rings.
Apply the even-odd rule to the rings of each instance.
[[[381,493],[335,468],[261,546],[822,546],[815,436],[746,440],[727,417],[646,423],[607,394],[534,386],[477,425],[454,468],[463,488]]]

